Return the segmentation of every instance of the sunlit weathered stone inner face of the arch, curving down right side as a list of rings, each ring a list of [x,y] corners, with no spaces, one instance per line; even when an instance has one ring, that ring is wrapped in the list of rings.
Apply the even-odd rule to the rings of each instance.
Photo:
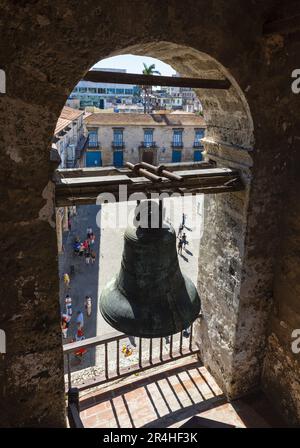
[[[202,360],[223,391],[230,397],[242,395],[259,384],[262,361],[258,362],[258,351],[266,331],[263,320],[269,311],[266,307],[254,313],[244,304],[242,307],[242,271],[253,166],[251,154],[254,151],[253,120],[247,100],[228,70],[211,56],[191,47],[164,41],[134,45],[109,56],[119,54],[156,57],[183,76],[227,77],[232,83],[228,91],[197,91],[207,125],[206,157],[219,166],[239,169],[246,188],[243,192],[208,195],[204,199],[198,279],[203,316],[196,339]],[[247,321],[248,313],[251,314],[251,324],[242,334],[239,326]],[[249,344],[250,334],[252,343]],[[248,371],[248,365],[253,365],[252,371]]]

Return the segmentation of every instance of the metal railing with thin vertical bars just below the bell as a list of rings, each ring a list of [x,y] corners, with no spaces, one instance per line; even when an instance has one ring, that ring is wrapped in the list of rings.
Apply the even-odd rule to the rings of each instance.
[[[193,342],[193,332],[194,324],[191,325],[185,341],[183,340],[183,332],[164,338],[135,338],[138,341],[135,352],[137,358],[129,366],[122,366],[120,363],[120,354],[122,353],[120,341],[129,338],[129,336],[123,333],[115,331],[104,336],[96,336],[80,342],[65,344],[63,346],[63,352],[67,361],[67,390],[72,389],[71,356],[79,349],[92,349],[96,347],[102,347],[104,349],[103,360],[101,360],[101,364],[103,363],[103,373],[95,376],[93,380],[82,380],[81,384],[76,384],[79,390],[85,390],[199,353],[199,348]],[[167,346],[167,351],[164,350],[164,339],[168,339],[168,343],[165,345]],[[109,355],[111,357],[112,354],[115,356],[115,359],[113,360],[114,368],[111,370],[109,368]]]

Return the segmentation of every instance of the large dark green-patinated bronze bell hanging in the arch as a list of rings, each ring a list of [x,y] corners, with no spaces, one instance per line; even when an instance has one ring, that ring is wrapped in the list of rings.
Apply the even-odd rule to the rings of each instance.
[[[145,203],[152,209],[150,222],[158,205]],[[162,223],[161,215],[157,228],[140,223],[126,229],[120,272],[100,297],[104,319],[129,336],[176,334],[188,328],[200,312],[197,290],[179,268],[174,228]]]

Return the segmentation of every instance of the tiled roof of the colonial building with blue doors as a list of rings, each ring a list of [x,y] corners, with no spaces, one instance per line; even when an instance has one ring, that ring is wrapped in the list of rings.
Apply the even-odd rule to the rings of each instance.
[[[193,114],[91,114],[84,120],[87,126],[198,126],[205,127],[203,117]]]

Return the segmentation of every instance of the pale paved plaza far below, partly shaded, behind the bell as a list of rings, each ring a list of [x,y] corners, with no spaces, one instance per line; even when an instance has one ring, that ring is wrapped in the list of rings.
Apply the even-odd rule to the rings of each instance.
[[[175,198],[164,201],[166,207],[166,221],[171,223],[176,232],[182,220],[182,213],[186,215],[185,233],[187,235],[188,245],[186,251],[183,251],[182,256],[179,256],[180,268],[183,273],[188,275],[194,283],[197,282],[198,270],[198,251],[199,240],[202,230],[202,201],[203,196]],[[128,206],[134,208],[134,203],[128,203]],[[106,283],[118,273],[120,269],[120,262],[123,252],[123,234],[127,226],[127,211],[125,213],[125,221],[121,220],[121,211],[124,204],[107,204],[103,205],[100,210],[99,206],[81,206],[77,207],[77,216],[72,218],[72,230],[66,232],[64,235],[65,252],[60,256],[60,276],[63,277],[64,272],[70,272],[70,266],[74,265],[75,274],[71,278],[70,295],[73,300],[73,318],[69,330],[69,339],[64,342],[69,342],[74,337],[76,326],[75,317],[76,311],[84,310],[84,297],[91,295],[93,298],[92,317],[85,317],[85,337],[93,337],[95,335],[105,335],[114,331],[108,325],[99,312],[98,302],[103,287]],[[132,214],[130,215],[132,216]],[[119,219],[119,224],[116,226],[116,221]],[[121,222],[122,221],[122,222]],[[131,221],[131,218],[129,218]],[[120,225],[121,224],[121,225]],[[73,255],[72,242],[76,236],[84,239],[86,236],[87,227],[91,226],[96,235],[95,251],[97,253],[97,260],[94,265],[85,265],[84,259]],[[114,228],[116,227],[116,228]],[[61,308],[63,309],[65,290],[63,282],[61,281]],[[178,339],[178,338],[177,338]],[[129,342],[128,340],[123,342]],[[188,340],[185,340],[187,345]],[[158,341],[154,343],[154,351],[158,349]],[[115,345],[110,346],[110,360],[109,363],[113,366],[115,364]],[[164,347],[168,351],[168,347]],[[147,349],[145,350],[147,356]],[[130,364],[136,362],[137,350],[131,358],[121,359],[121,364]],[[97,360],[95,360],[95,350],[89,350],[85,359],[80,365],[76,360],[72,360],[72,371],[82,371],[83,369],[97,365],[103,368],[103,350],[97,349]],[[86,372],[90,376],[90,372]],[[93,372],[94,374],[94,372]],[[79,378],[78,378],[79,379]]]

